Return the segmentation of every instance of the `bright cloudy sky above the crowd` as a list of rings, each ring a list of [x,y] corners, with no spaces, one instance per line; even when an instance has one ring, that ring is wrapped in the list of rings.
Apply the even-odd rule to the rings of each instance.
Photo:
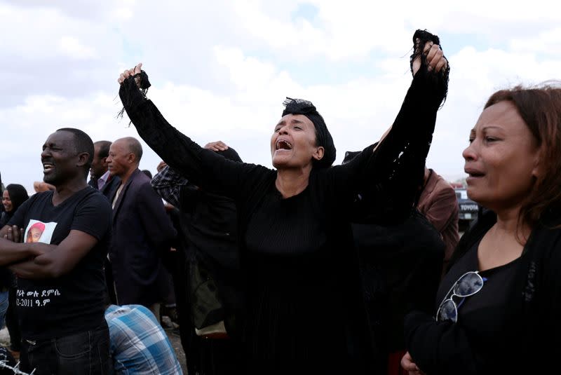
[[[221,139],[244,161],[270,166],[281,103],[302,97],[323,114],[340,163],[391,125],[411,81],[415,29],[438,34],[452,66],[428,165],[458,179],[490,94],[561,78],[561,13],[552,4],[0,1],[2,179],[32,192],[41,146],[58,128],[94,141],[137,137],[116,119],[116,79],[137,62],[150,76],[149,97],[199,144]],[[143,146],[140,168],[155,172],[160,160]]]

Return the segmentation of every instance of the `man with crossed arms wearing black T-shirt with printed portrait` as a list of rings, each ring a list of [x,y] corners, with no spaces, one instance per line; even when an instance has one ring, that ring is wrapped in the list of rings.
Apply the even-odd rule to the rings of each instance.
[[[34,374],[107,374],[103,260],[111,205],[86,183],[93,142],[64,128],[43,144],[43,180],[0,230],[0,265],[18,275],[21,369]],[[28,234],[32,241],[27,240]]]

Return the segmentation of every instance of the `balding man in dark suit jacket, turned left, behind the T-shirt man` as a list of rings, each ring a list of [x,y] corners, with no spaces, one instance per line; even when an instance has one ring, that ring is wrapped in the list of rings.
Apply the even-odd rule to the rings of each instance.
[[[109,259],[119,304],[140,304],[159,316],[161,252],[176,236],[163,202],[139,169],[142,146],[126,137],[111,144],[107,164],[121,184],[110,197],[113,239]]]

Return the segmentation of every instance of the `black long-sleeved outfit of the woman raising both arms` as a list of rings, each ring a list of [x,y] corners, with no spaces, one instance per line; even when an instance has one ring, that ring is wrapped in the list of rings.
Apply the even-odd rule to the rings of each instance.
[[[140,137],[163,161],[236,201],[248,371],[371,373],[351,207],[360,193],[375,201],[383,196],[393,216],[411,212],[444,96],[438,76],[421,68],[375,152],[367,146],[350,163],[312,170],[306,189],[290,198],[277,191],[276,170],[229,161],[173,128],[133,78],[119,95]]]

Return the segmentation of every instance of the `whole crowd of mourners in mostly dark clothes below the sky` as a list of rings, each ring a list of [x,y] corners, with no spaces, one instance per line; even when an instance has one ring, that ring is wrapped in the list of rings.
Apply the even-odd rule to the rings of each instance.
[[[182,374],[175,306],[189,374],[555,371],[561,88],[489,98],[463,153],[485,210],[460,238],[454,189],[426,166],[450,65],[438,36],[413,43],[396,120],[341,165],[307,100],[283,103],[271,169],[199,146],[147,98],[142,64],[123,71],[158,173],[135,137],[61,128],[37,193],[2,185],[0,355],[36,375]]]

